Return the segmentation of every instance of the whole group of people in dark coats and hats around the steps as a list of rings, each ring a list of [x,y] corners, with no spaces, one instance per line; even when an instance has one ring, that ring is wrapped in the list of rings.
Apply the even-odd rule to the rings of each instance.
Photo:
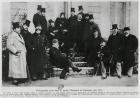
[[[84,56],[89,66],[95,69],[96,65],[102,62],[102,79],[107,78],[106,66],[110,61],[113,66],[111,70],[117,72],[118,78],[121,78],[122,64],[124,69],[128,69],[128,76],[132,76],[138,40],[130,34],[129,27],[125,27],[124,33],[120,34],[117,24],[113,24],[113,33],[105,42],[93,15],[83,13],[82,6],[79,6],[78,15],[75,15],[75,9],[71,8],[71,16],[68,19],[63,12],[56,21],[50,19],[49,28],[45,8],[38,5],[37,11],[33,16],[33,34],[28,31],[30,21],[26,20],[22,27],[18,22],[13,23],[13,32],[7,39],[9,77],[13,78],[14,84],[25,82],[27,77],[32,80],[47,79],[46,69],[50,63],[63,69],[60,79],[66,79],[69,67],[80,72],[81,69],[72,64],[70,49],[78,56]]]

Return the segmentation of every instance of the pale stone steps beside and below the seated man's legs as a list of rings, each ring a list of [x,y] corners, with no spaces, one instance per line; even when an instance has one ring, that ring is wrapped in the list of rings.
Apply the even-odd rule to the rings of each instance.
[[[77,66],[78,68],[82,69],[81,72],[73,72],[72,68],[69,68],[70,72],[67,74],[68,77],[84,77],[84,76],[93,76],[94,68],[89,67],[87,62],[84,61],[85,57],[74,57],[72,59],[72,63]],[[53,68],[54,70],[54,77],[58,77],[62,71],[60,68]]]

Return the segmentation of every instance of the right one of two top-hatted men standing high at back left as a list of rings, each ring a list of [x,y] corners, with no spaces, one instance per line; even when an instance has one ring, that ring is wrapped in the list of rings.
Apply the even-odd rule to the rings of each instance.
[[[47,34],[47,20],[46,20],[46,17],[45,17],[45,13],[46,13],[45,8],[42,8],[41,9],[41,15],[42,16],[41,16],[41,23],[40,23],[40,25],[42,27],[41,33],[45,34],[45,35],[48,35]]]

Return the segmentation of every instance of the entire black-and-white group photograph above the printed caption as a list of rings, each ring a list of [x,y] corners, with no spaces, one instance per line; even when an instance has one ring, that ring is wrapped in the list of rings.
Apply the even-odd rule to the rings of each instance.
[[[2,2],[1,17],[2,87],[138,87],[138,1]]]

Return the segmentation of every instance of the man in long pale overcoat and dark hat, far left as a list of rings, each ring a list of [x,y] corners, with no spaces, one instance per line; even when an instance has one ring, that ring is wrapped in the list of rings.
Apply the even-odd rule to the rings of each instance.
[[[19,22],[13,23],[13,31],[8,35],[7,49],[9,50],[9,77],[13,84],[25,82],[27,78],[26,47],[20,34]]]

